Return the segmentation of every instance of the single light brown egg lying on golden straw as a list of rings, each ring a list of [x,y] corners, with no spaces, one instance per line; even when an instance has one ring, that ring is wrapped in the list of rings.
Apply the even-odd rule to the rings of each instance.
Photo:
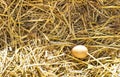
[[[74,57],[84,59],[88,55],[88,49],[84,45],[76,45],[72,48],[71,54]]]

